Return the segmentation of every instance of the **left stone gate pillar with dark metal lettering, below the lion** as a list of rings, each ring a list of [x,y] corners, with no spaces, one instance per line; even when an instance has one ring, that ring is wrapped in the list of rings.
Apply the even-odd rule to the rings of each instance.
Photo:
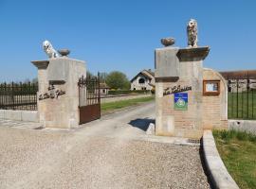
[[[38,68],[38,112],[46,128],[79,126],[79,78],[86,77],[85,62],[61,57],[35,60]]]

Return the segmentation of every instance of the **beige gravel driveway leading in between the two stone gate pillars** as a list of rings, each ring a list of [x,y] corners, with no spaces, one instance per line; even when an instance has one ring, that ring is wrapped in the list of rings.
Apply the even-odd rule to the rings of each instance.
[[[70,131],[0,121],[0,188],[210,188],[198,146],[145,135],[153,113],[151,103]]]

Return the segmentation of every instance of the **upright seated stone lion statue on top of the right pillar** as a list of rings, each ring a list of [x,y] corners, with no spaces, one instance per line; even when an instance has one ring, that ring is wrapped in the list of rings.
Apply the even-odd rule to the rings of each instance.
[[[187,25],[187,34],[188,34],[188,45],[190,47],[196,47],[198,43],[197,39],[197,22],[194,19],[191,19]]]

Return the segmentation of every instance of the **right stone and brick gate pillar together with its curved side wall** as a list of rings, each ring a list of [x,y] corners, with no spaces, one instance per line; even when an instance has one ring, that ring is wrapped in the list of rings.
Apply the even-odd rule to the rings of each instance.
[[[199,139],[204,129],[228,127],[226,81],[219,73],[203,68],[209,51],[208,46],[155,50],[156,135]],[[219,80],[220,94],[204,94],[204,80]],[[171,92],[166,94],[166,90]],[[174,109],[176,93],[188,94],[187,108]]]

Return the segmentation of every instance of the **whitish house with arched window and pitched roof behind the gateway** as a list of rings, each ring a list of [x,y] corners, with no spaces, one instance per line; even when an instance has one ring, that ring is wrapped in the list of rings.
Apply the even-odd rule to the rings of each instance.
[[[131,90],[152,90],[155,88],[155,73],[142,70],[131,80]]]

